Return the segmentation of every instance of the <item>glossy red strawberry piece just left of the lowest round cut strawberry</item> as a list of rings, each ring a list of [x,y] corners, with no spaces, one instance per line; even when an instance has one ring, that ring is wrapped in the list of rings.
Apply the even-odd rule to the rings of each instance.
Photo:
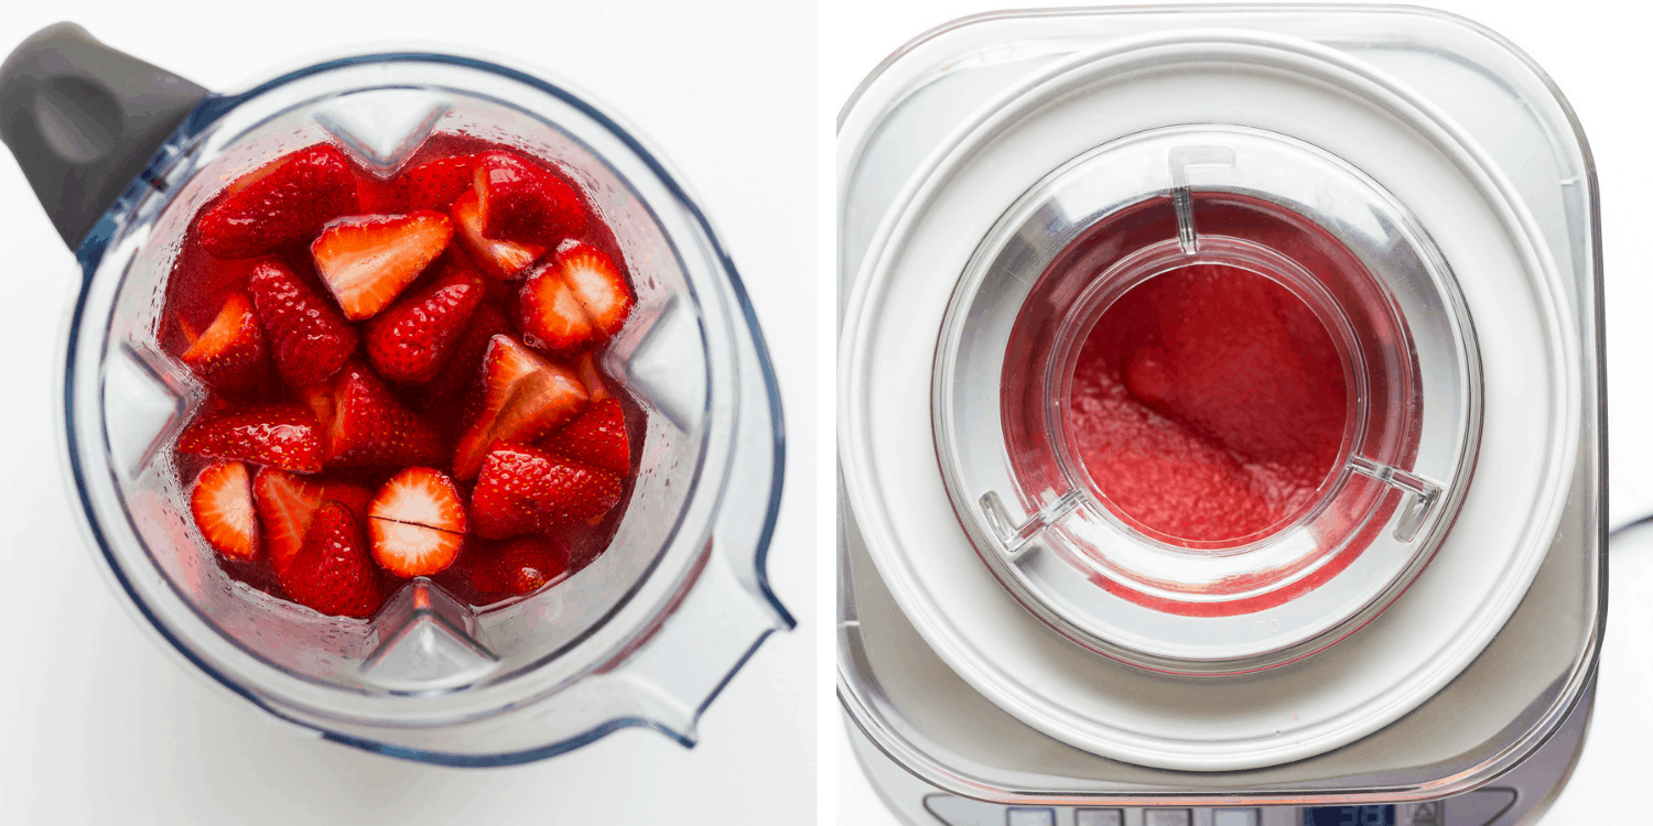
[[[332,616],[367,620],[383,605],[362,525],[339,502],[322,502],[304,544],[278,577],[293,601]]]

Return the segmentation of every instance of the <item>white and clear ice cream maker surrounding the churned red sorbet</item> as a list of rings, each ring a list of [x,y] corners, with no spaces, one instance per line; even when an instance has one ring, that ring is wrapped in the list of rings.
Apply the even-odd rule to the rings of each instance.
[[[1398,7],[990,13],[886,59],[838,147],[838,695],[893,811],[1542,811],[1605,431],[1593,167],[1531,59]],[[1144,520],[1071,415],[1109,309],[1192,268],[1293,294],[1347,388],[1308,502],[1222,542]]]

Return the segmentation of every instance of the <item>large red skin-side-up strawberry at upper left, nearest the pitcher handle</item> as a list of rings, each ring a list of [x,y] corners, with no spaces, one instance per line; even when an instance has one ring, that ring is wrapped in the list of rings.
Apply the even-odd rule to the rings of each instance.
[[[195,231],[213,256],[258,258],[309,240],[321,225],[355,208],[349,159],[317,144],[241,175],[200,213]]]

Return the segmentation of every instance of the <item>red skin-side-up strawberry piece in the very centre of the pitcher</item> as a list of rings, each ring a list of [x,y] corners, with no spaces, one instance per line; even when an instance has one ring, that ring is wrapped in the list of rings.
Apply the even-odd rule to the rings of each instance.
[[[438,464],[446,458],[441,436],[407,408],[360,363],[349,363],[332,385],[327,426],[327,468],[395,469]]]

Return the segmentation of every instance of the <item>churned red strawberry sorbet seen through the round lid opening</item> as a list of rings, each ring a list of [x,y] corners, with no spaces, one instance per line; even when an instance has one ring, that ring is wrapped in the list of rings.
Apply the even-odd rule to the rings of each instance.
[[[1308,302],[1256,273],[1197,264],[1108,307],[1065,416],[1117,514],[1174,540],[1240,544],[1314,504],[1347,405],[1337,347]]]

